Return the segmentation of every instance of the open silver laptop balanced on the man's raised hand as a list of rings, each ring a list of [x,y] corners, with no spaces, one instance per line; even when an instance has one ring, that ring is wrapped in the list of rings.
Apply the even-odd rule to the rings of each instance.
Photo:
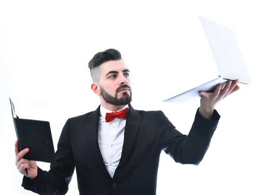
[[[223,89],[229,80],[239,79],[239,83],[243,85],[251,83],[233,30],[201,16],[199,19],[212,50],[219,75],[216,79],[191,90],[163,99],[163,102],[188,102],[190,99],[201,97],[199,94],[201,90],[213,92],[219,83],[222,84],[221,89]]]

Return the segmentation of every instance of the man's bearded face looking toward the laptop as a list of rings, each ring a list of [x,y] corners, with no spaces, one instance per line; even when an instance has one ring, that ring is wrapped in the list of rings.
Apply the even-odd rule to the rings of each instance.
[[[125,62],[112,60],[100,66],[99,89],[105,102],[112,105],[127,105],[131,102],[130,71]]]

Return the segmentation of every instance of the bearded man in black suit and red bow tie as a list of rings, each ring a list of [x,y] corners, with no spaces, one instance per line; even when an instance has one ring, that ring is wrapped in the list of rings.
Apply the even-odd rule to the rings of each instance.
[[[154,195],[162,150],[175,162],[198,165],[209,147],[220,116],[215,105],[239,89],[238,79],[213,93],[202,91],[201,105],[187,135],[162,111],[134,110],[128,67],[119,51],[99,52],[89,62],[91,89],[100,105],[67,120],[58,141],[57,164],[41,170],[18,151],[22,186],[40,195],[64,195],[76,167],[80,195]],[[26,176],[25,168],[28,170]]]

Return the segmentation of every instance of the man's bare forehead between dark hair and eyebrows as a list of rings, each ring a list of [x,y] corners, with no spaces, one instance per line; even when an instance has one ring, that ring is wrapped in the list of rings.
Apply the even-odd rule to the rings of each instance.
[[[108,62],[104,62],[101,64],[100,69],[101,69],[101,73],[105,75],[109,71],[122,72],[123,70],[128,69],[128,67],[126,66],[125,62],[122,59],[120,59],[120,60],[111,60]]]

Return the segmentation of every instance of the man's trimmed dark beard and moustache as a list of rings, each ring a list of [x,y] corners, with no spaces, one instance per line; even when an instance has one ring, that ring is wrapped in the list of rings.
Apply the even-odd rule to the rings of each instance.
[[[99,86],[100,92],[102,94],[102,98],[105,100],[105,102],[116,105],[116,106],[121,106],[121,105],[128,105],[131,102],[131,95],[129,95],[127,92],[122,93],[122,97],[117,98],[117,93],[119,90],[122,88],[128,88],[130,90],[131,94],[131,88],[128,85],[122,85],[119,88],[116,89],[116,96],[111,96],[107,91],[105,91],[102,86]]]

